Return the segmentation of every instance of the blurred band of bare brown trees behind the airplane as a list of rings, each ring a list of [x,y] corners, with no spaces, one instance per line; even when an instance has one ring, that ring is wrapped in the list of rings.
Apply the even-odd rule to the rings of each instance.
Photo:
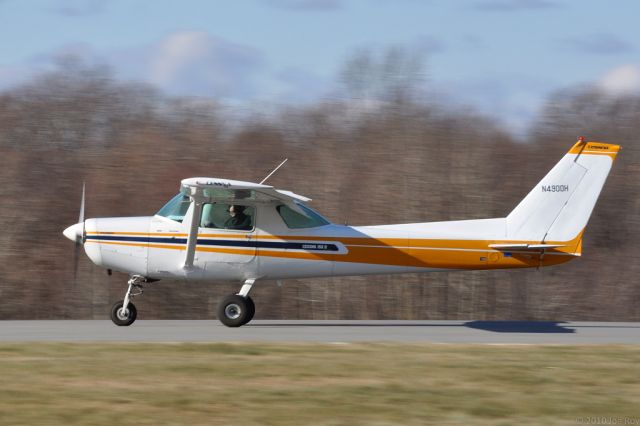
[[[396,77],[415,71],[401,65]],[[127,277],[83,253],[74,272],[61,232],[77,220],[83,181],[87,217],[149,215],[185,177],[259,181],[288,157],[270,183],[313,198],[334,222],[501,217],[585,135],[623,151],[582,259],[539,271],[264,282],[256,318],[640,320],[640,96],[558,93],[523,142],[481,113],[416,95],[405,84],[415,80],[356,78],[362,66],[345,68],[345,97],[251,110],[82,66],[1,93],[0,319],[106,319],[124,294]],[[214,318],[218,298],[237,288],[162,281],[136,303],[141,318]]]

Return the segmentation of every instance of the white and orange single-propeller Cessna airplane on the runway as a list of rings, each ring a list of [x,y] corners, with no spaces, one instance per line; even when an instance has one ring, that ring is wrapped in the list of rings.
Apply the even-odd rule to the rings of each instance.
[[[241,283],[217,308],[224,325],[240,327],[255,314],[249,293],[258,281],[539,268],[580,257],[585,227],[619,151],[619,145],[580,137],[502,218],[338,225],[310,208],[309,198],[264,180],[195,177],[182,180],[179,193],[145,217],[85,220],[83,186],[79,221],[63,234],[109,273],[130,275],[124,299],[111,309],[116,325],[136,320],[131,300],[145,284],[172,279]]]

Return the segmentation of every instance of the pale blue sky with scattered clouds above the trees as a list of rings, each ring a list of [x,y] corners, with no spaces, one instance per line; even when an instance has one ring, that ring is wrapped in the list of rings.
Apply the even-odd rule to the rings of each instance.
[[[434,96],[515,133],[558,90],[640,93],[635,0],[0,0],[0,90],[62,58],[231,104],[314,102],[359,49],[425,59]]]

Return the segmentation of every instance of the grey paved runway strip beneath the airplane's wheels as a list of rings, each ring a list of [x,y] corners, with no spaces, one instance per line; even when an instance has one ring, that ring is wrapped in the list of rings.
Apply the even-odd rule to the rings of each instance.
[[[640,344],[640,323],[523,321],[1,321],[0,342]]]

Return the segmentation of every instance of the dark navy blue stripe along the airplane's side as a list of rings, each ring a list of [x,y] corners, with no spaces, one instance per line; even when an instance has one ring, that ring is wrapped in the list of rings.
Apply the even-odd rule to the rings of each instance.
[[[155,243],[155,244],[187,244],[186,238],[175,237],[124,237],[116,235],[87,235],[87,240],[94,241],[123,241],[135,243]],[[315,251],[338,251],[335,244],[324,244],[317,242],[292,243],[277,241],[255,241],[255,240],[198,240],[199,246],[222,246],[222,247],[253,247],[253,248],[275,248],[289,250],[315,250]]]

